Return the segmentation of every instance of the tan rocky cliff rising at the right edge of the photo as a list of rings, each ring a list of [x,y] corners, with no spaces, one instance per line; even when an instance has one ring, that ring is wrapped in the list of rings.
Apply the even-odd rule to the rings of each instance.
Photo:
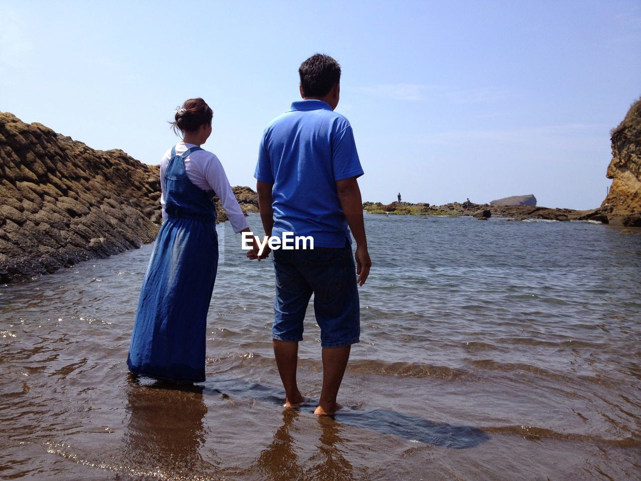
[[[641,227],[641,99],[612,131],[612,187],[601,210],[613,225]]]

